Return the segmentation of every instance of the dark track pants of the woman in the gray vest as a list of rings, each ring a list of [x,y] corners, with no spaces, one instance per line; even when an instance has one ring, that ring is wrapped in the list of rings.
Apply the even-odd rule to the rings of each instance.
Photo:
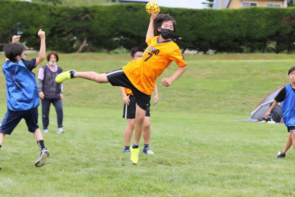
[[[52,103],[57,114],[58,128],[63,127],[63,104],[61,99],[41,99],[42,103],[42,123],[43,129],[47,129],[49,124],[49,110]]]

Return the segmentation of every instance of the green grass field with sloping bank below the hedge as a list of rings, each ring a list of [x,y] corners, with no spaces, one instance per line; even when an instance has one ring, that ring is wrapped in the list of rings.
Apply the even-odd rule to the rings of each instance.
[[[103,73],[128,60],[128,54],[61,54],[58,65]],[[64,82],[66,133],[56,133],[51,106],[44,167],[34,166],[38,147],[24,121],[5,137],[0,196],[294,196],[294,149],[275,158],[285,145],[286,127],[234,120],[247,119],[268,93],[289,82],[295,56],[187,55],[186,60],[186,73],[171,87],[160,80],[176,71],[175,63],[157,80],[159,102],[151,107],[154,155],[140,154],[132,165],[122,153],[127,121],[119,87],[72,79]],[[3,74],[0,86],[2,119]],[[39,113],[42,128],[41,106]],[[140,152],[142,147],[143,141]]]

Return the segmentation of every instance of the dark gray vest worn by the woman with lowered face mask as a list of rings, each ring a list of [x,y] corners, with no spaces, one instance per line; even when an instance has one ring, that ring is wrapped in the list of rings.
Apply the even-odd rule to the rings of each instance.
[[[63,69],[59,66],[56,72],[52,72],[47,65],[42,66],[44,69],[44,79],[43,79],[43,93],[46,99],[59,99],[59,84],[55,82],[55,77],[60,74]]]

